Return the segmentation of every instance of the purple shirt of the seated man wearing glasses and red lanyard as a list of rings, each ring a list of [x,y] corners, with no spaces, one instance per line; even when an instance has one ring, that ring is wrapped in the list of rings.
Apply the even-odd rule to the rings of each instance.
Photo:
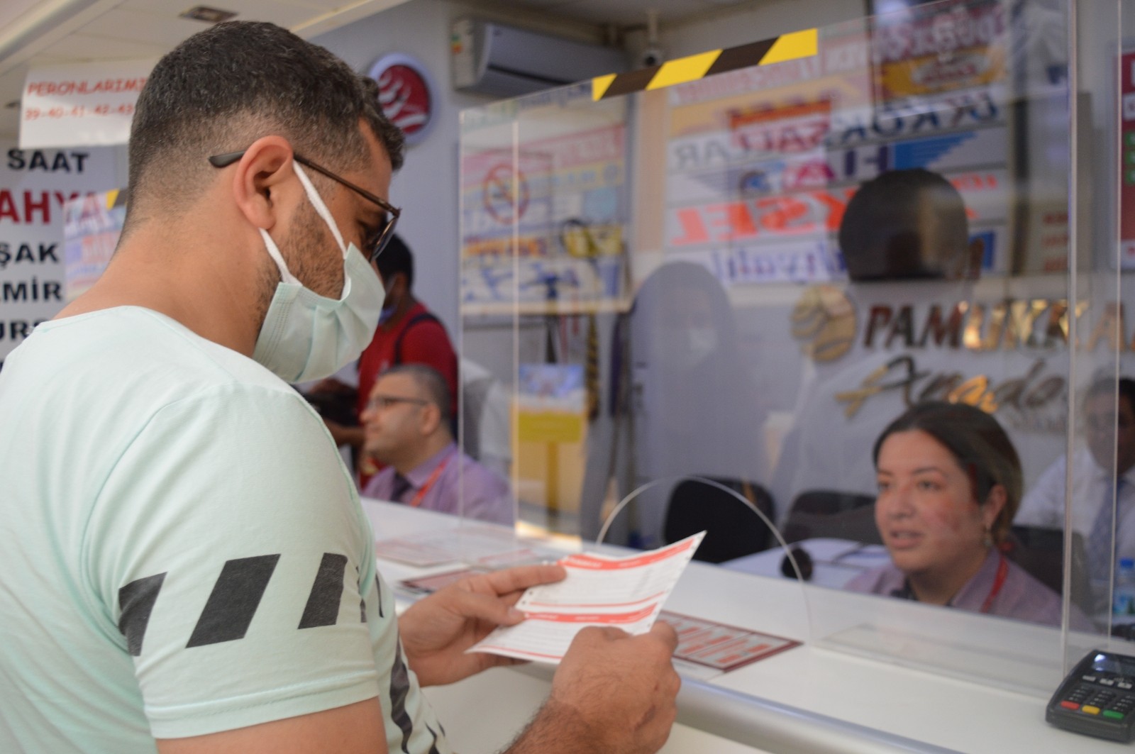
[[[398,500],[394,500],[393,494],[397,474],[393,466],[375,475],[362,494],[409,504],[443,464],[444,468],[422,495],[421,508],[512,526],[513,504],[508,483],[457,450],[456,443],[449,443],[406,474],[410,488]]]

